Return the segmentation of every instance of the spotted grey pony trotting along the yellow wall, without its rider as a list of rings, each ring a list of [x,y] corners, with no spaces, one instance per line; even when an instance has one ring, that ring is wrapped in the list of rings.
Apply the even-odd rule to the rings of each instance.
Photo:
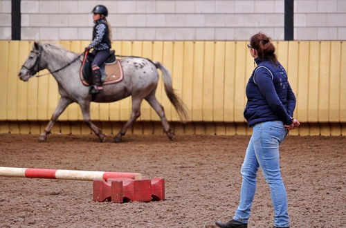
[[[43,69],[48,69],[50,72],[54,72],[55,70],[66,66],[66,64],[69,64],[77,57],[78,54],[65,50],[57,44],[35,41],[28,59],[26,59],[19,71],[19,79],[26,82],[30,77],[33,77],[35,73]],[[131,124],[133,124],[140,116],[140,104],[143,99],[154,108],[158,116],[161,118],[163,131],[165,131],[170,140],[173,140],[174,133],[172,132],[172,129],[170,129],[170,124],[167,122],[163,106],[161,106],[155,97],[159,77],[156,68],[158,68],[163,73],[163,82],[167,97],[170,99],[170,102],[173,104],[182,122],[188,119],[185,104],[183,104],[181,99],[174,93],[174,89],[172,88],[170,72],[158,61],[151,61],[145,58],[125,57],[120,59],[120,61],[125,75],[124,79],[117,84],[104,86],[104,92],[98,94],[94,100],[94,102],[116,102],[120,99],[131,96],[132,109],[130,118],[114,137],[113,142],[120,142],[122,140],[122,135],[125,135],[129,126],[131,126]],[[62,114],[65,108],[73,102],[79,104],[83,113],[84,122],[96,135],[98,135],[100,142],[106,140],[106,135],[104,135],[102,131],[91,122],[90,104],[92,102],[92,97],[89,94],[89,88],[84,86],[80,81],[80,66],[81,60],[78,59],[70,66],[56,73],[52,73],[53,77],[57,81],[61,97],[51,120],[46,126],[46,129],[44,129],[44,132],[39,135],[39,141],[42,142],[46,140],[47,135],[48,133],[51,133],[51,129],[57,118]]]

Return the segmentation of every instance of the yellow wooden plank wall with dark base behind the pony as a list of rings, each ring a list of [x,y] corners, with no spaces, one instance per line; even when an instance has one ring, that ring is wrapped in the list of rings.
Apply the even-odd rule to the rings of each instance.
[[[89,41],[57,41],[81,53]],[[248,135],[243,111],[245,86],[254,63],[247,41],[114,41],[118,55],[161,61],[173,87],[188,106],[190,122],[180,124],[163,83],[156,96],[178,134]],[[51,75],[21,82],[17,74],[33,41],[0,41],[0,133],[40,133],[59,94]],[[346,42],[275,41],[277,56],[298,99],[295,117],[302,127],[293,135],[346,135]],[[46,70],[41,73],[45,73]],[[126,77],[126,76],[125,76]],[[131,99],[91,105],[92,120],[116,133],[129,118]],[[132,133],[161,134],[159,118],[147,102]],[[77,104],[60,116],[53,133],[90,133]]]

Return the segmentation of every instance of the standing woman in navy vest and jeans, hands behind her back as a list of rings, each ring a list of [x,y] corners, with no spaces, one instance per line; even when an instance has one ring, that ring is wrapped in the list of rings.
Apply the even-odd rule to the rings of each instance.
[[[271,191],[274,227],[289,227],[287,197],[280,173],[279,145],[289,130],[299,126],[293,119],[295,95],[286,70],[277,61],[271,39],[259,32],[251,37],[248,48],[257,67],[246,85],[248,99],[244,117],[253,128],[242,164],[242,188],[235,216],[228,222],[215,222],[218,227],[247,227],[256,191],[257,171],[262,173]]]

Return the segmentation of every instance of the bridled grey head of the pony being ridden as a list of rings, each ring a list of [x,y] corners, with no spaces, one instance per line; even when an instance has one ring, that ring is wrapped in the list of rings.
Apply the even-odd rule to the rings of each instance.
[[[39,42],[33,44],[33,50],[30,51],[28,59],[24,62],[19,70],[19,79],[26,82],[30,77],[33,77],[39,70],[44,69],[41,61],[42,57],[42,46]]]

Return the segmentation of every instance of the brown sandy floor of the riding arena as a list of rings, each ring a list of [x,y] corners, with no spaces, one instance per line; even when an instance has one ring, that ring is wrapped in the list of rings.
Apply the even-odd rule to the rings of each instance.
[[[92,182],[0,177],[0,227],[215,227],[233,216],[248,136],[0,135],[1,167],[129,171],[163,177],[166,200],[93,202]],[[345,227],[346,138],[289,136],[281,167],[291,227]],[[249,227],[271,227],[259,172]]]

